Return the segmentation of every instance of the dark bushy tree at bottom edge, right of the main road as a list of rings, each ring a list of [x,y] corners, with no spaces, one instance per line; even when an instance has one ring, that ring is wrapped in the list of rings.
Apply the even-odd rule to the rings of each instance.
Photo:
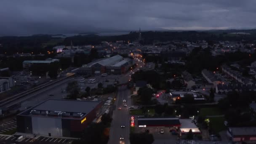
[[[154,137],[152,134],[145,133],[130,133],[131,144],[152,144]]]

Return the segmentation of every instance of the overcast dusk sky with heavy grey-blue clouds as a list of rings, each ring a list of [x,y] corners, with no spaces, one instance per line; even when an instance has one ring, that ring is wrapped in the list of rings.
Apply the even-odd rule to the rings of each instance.
[[[104,30],[242,29],[256,0],[0,0],[0,35]]]

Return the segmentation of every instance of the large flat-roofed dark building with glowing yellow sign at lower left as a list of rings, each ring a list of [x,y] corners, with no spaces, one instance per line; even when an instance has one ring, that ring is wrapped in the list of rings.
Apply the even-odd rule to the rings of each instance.
[[[101,111],[100,101],[49,99],[17,115],[17,131],[79,137]]]

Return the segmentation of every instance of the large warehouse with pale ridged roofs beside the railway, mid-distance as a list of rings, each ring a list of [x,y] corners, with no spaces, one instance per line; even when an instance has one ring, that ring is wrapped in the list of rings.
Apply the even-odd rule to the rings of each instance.
[[[80,68],[79,73],[83,75],[97,75],[103,73],[121,75],[127,72],[132,65],[132,59],[115,55],[110,58],[98,59],[89,64],[85,64]]]

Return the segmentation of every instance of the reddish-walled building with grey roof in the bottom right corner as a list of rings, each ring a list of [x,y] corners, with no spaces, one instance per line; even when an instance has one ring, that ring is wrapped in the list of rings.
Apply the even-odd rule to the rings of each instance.
[[[227,135],[232,141],[256,141],[256,127],[229,127]]]

